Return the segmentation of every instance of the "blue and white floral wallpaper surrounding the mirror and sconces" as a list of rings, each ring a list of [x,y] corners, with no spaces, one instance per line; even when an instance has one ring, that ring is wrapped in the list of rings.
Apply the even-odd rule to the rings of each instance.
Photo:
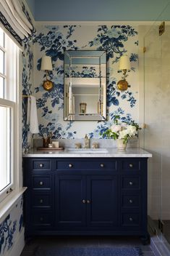
[[[100,138],[113,123],[114,116],[122,121],[138,122],[138,31],[131,25],[38,25],[33,39],[33,53],[27,49],[23,74],[23,92],[32,90],[37,99],[39,135],[53,133],[53,138],[82,138],[86,133],[90,137]],[[106,50],[107,52],[107,121],[64,121],[64,50]],[[131,71],[127,81],[130,87],[125,92],[116,89],[116,83],[122,79],[118,72],[119,58],[127,54],[131,61]],[[43,89],[44,71],[41,71],[41,57],[51,56],[54,89]],[[30,88],[29,72],[34,56],[33,87]],[[23,59],[24,60],[24,59]],[[25,60],[24,60],[25,61]],[[29,66],[29,68],[28,68]],[[85,73],[95,74],[93,67]],[[31,80],[31,79],[30,79]],[[27,81],[27,82],[25,82]],[[25,116],[26,113],[24,113]],[[26,145],[27,129],[23,127],[23,146]]]

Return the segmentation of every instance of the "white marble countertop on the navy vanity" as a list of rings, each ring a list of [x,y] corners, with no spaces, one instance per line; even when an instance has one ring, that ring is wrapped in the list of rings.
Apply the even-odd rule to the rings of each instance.
[[[73,148],[73,151],[70,150],[67,151],[67,148],[64,151],[37,151],[37,150],[31,150],[28,153],[23,154],[23,157],[56,157],[56,158],[62,158],[62,157],[73,157],[73,158],[79,158],[79,157],[152,157],[152,154],[144,151],[142,148],[127,148],[126,151],[118,151],[117,148],[106,148],[106,152],[99,153],[98,151],[102,152],[102,148],[98,148],[97,150],[93,150],[91,148],[88,148],[85,152],[85,149],[77,149],[75,151],[75,148]],[[90,153],[90,151],[93,151]]]

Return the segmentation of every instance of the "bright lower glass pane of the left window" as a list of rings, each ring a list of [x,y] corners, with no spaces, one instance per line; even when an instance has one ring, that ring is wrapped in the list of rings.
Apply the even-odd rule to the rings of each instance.
[[[0,191],[11,183],[11,109],[0,106]]]

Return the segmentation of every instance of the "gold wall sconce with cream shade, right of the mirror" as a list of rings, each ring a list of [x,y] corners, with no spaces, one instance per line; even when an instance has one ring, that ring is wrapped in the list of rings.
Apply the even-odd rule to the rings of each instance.
[[[127,75],[128,70],[130,70],[129,57],[127,55],[123,55],[122,57],[120,57],[120,61],[119,61],[119,71],[123,71],[123,76],[122,76],[122,80],[118,81],[117,83],[117,88],[122,92],[129,87],[128,82],[126,80],[128,76]]]

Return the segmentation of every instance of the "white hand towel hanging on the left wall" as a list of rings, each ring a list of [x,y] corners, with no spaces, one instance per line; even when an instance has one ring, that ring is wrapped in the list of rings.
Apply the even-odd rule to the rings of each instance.
[[[33,96],[27,98],[27,124],[30,124],[30,133],[39,132],[36,99]]]

